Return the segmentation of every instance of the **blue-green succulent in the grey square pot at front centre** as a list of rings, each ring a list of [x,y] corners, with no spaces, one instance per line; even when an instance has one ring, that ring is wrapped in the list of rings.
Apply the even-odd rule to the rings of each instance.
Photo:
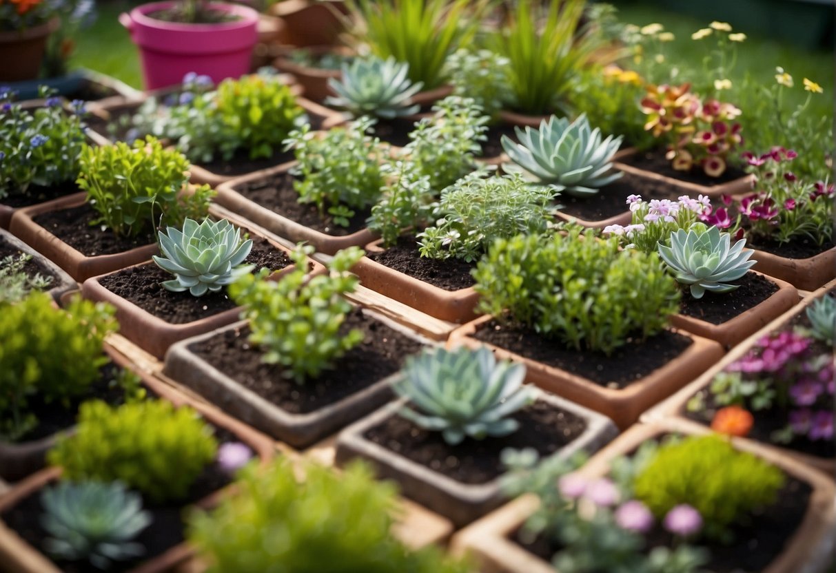
[[[455,445],[466,435],[483,439],[514,432],[519,424],[507,416],[534,401],[523,378],[522,364],[497,363],[486,347],[436,348],[407,358],[395,392],[421,410],[405,407],[404,418],[440,430],[446,443]]]

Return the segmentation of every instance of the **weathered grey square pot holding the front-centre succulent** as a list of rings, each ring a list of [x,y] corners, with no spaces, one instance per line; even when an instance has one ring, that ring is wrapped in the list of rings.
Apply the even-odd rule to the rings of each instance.
[[[609,418],[599,413],[543,392],[538,392],[538,401],[584,418],[587,424],[584,434],[550,459],[568,459],[580,451],[591,454],[618,435]],[[464,484],[364,438],[367,431],[394,416],[405,403],[405,399],[390,403],[340,432],[337,464],[343,466],[354,458],[370,461],[380,479],[394,479],[406,497],[444,515],[456,527],[466,525],[501,505],[506,499],[500,489],[501,476],[485,484]]]

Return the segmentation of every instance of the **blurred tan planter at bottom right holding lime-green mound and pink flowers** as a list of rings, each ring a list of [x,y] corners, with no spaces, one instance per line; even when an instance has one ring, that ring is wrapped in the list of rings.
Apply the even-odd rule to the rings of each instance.
[[[642,442],[670,432],[706,434],[705,431],[693,432],[690,428],[637,425],[596,454],[580,473],[590,479],[601,477],[609,472],[609,463],[615,457],[630,454]],[[787,541],[782,553],[762,573],[812,573],[823,570],[833,548],[836,521],[833,506],[836,487],[833,482],[775,452],[758,449],[737,440],[734,444],[737,449],[762,457],[813,488],[807,514],[801,525]],[[536,497],[525,495],[504,505],[456,534],[451,542],[453,552],[472,555],[482,573],[555,573],[552,565],[511,539],[537,509],[538,503]]]

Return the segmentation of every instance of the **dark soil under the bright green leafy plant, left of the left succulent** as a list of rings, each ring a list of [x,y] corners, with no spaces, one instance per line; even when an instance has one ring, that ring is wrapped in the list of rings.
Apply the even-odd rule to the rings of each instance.
[[[97,216],[93,207],[84,203],[78,207],[41,213],[34,216],[33,221],[84,256],[113,255],[155,242],[153,232],[120,237],[110,229],[91,226],[90,221]]]

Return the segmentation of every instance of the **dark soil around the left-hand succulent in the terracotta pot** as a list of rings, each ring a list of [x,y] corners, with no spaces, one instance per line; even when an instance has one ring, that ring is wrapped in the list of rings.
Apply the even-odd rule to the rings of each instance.
[[[257,269],[266,266],[271,271],[292,264],[283,251],[258,236],[252,237],[252,251],[246,262],[255,265]],[[187,291],[168,291],[161,283],[172,278],[170,273],[150,262],[102,276],[99,282],[115,295],[171,324],[193,322],[236,307],[235,302],[227,296],[226,288],[218,292],[207,292],[202,297],[193,297]]]

